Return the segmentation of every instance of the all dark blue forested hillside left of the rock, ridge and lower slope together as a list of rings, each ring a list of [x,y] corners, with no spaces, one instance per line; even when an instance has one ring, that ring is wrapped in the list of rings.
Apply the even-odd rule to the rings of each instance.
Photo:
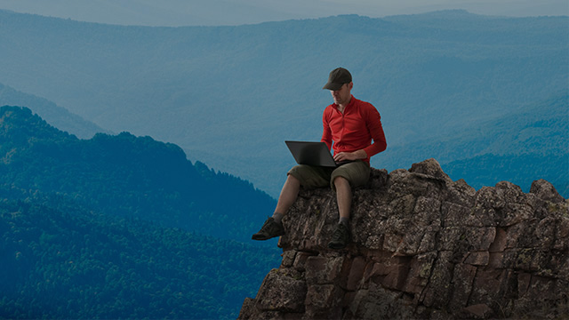
[[[251,183],[129,133],[0,108],[1,318],[236,318],[278,266]]]

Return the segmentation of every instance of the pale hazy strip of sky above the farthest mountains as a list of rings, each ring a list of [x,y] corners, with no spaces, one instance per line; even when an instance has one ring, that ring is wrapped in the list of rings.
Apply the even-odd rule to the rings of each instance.
[[[445,9],[517,17],[569,15],[569,0],[0,0],[0,9],[122,25],[215,26]]]

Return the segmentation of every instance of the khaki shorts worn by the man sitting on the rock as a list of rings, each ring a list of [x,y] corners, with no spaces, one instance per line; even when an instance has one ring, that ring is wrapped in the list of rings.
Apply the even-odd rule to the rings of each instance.
[[[337,168],[299,164],[293,166],[288,174],[301,181],[304,188],[325,188],[330,186],[335,190],[334,180],[337,177],[349,181],[351,188],[365,185],[370,179],[370,165],[362,160],[343,164]]]

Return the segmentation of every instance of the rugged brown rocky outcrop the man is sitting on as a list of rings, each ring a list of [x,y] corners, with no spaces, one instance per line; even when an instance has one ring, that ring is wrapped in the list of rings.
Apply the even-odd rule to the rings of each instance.
[[[475,190],[429,159],[374,169],[352,211],[352,244],[331,251],[335,195],[302,190],[239,318],[569,316],[569,202],[545,180]]]

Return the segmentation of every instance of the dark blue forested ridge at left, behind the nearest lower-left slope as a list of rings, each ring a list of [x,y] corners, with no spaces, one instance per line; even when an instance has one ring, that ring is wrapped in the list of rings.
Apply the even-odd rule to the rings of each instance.
[[[0,128],[0,188],[12,198],[55,194],[114,216],[247,241],[274,209],[250,182],[192,164],[180,147],[150,137],[79,140],[7,106]]]

